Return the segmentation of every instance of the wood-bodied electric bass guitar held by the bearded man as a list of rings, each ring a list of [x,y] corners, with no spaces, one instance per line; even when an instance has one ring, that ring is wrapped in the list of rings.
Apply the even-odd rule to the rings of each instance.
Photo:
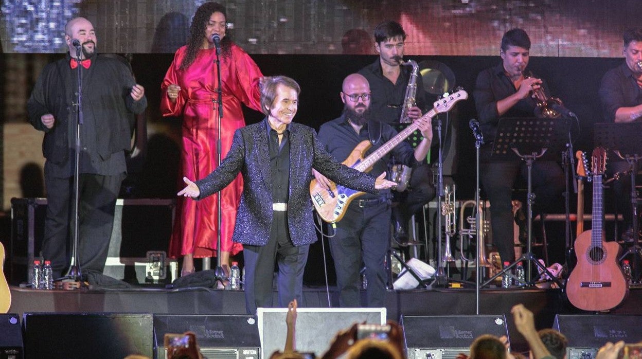
[[[433,118],[440,112],[447,112],[450,110],[457,101],[465,100],[468,98],[468,93],[464,90],[457,91],[449,96],[446,96],[440,100],[433,103],[434,107],[432,110],[429,110],[422,116],[423,118]],[[406,137],[410,136],[415,130],[419,128],[417,121],[410,124],[408,127],[404,128],[403,131],[399,132],[397,136],[392,137],[390,141],[383,144],[375,152],[370,153],[365,159],[363,155],[365,152],[372,146],[370,141],[361,141],[356,145],[354,150],[350,153],[347,159],[343,161],[343,164],[346,166],[352,167],[355,170],[361,172],[367,172],[372,170],[372,166],[385,156],[386,153],[390,152],[397,144],[401,143]],[[356,191],[351,188],[346,188],[343,186],[337,186],[334,182],[331,183],[329,188],[320,186],[317,183],[316,179],[313,179],[310,182],[310,197],[312,198],[312,203],[317,209],[317,213],[325,222],[339,222],[343,215],[345,215],[345,209],[354,198],[357,198],[363,195],[364,192]]]

